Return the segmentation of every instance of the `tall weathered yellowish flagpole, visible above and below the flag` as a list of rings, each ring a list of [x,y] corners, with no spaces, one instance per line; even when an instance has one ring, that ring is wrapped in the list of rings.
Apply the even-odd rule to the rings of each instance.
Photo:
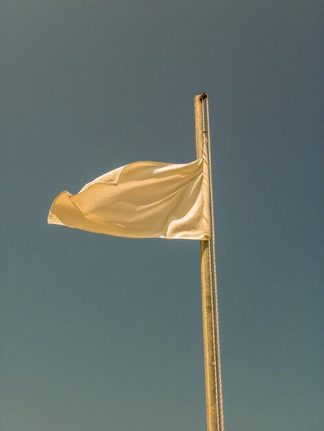
[[[194,123],[196,130],[196,157],[203,156],[204,142],[203,101],[207,94],[194,97]],[[205,366],[205,395],[207,431],[219,431],[219,393],[216,365],[214,291],[212,287],[210,241],[200,242],[201,252],[201,299],[203,312],[203,353]]]

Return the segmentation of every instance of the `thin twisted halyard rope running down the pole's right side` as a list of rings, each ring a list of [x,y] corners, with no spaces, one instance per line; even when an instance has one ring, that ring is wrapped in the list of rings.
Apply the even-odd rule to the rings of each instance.
[[[222,379],[221,379],[221,341],[219,337],[219,298],[218,298],[218,291],[217,291],[217,273],[216,273],[216,254],[215,254],[215,224],[214,224],[214,196],[213,196],[213,190],[212,190],[212,154],[211,154],[211,145],[210,145],[210,110],[209,110],[209,103],[208,103],[208,95],[203,93],[203,98],[201,98],[201,103],[203,107],[203,129],[204,129],[204,143],[205,143],[205,133],[207,132],[208,139],[207,139],[207,152],[208,152],[208,165],[209,165],[209,172],[210,172],[210,207],[212,210],[212,258],[211,258],[211,250],[210,250],[210,273],[212,273],[212,263],[213,263],[213,270],[214,270],[214,295],[212,297],[215,297],[215,311],[216,311],[216,355],[217,355],[217,367],[218,367],[218,380],[219,385],[217,385],[217,378],[215,374],[215,386],[216,386],[216,403],[217,406],[219,405],[218,399],[220,399],[220,415],[221,415],[221,431],[224,431],[224,410],[223,410],[223,387],[222,387]],[[205,131],[205,114],[204,114],[204,98],[206,98],[206,107],[207,107],[207,131]],[[208,241],[210,245],[210,240]],[[209,247],[210,248],[210,247]],[[213,260],[213,262],[212,262]],[[214,308],[213,308],[214,311]],[[214,321],[214,313],[213,314],[213,321]],[[214,332],[214,331],[213,331]],[[219,386],[219,388],[218,388]],[[218,396],[219,392],[219,396]],[[217,412],[218,413],[218,412]],[[218,428],[219,429],[219,424]]]

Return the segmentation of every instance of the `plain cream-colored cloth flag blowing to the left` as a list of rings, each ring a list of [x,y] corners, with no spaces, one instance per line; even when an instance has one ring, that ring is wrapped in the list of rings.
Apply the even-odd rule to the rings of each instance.
[[[63,191],[48,223],[126,238],[210,238],[207,158],[184,165],[134,162]]]

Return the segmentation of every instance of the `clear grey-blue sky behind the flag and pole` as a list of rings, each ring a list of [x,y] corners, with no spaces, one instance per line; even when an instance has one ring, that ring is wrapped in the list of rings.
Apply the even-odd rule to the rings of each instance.
[[[1,0],[1,431],[205,429],[199,243],[47,224],[63,190],[194,160],[203,91],[225,430],[323,430],[323,8]]]

